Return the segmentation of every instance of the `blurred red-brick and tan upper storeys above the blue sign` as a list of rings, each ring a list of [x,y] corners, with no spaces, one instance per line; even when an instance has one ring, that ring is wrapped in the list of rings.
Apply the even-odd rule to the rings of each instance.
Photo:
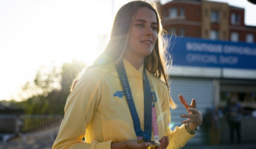
[[[244,24],[244,8],[206,0],[173,0],[161,6],[162,25],[177,36],[256,42],[256,26]]]

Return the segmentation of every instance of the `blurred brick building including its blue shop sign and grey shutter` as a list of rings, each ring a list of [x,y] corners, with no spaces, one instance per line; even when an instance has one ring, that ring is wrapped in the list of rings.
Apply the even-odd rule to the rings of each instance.
[[[189,143],[229,143],[225,107],[235,97],[243,107],[241,142],[255,142],[250,136],[256,132],[250,128],[256,122],[256,26],[244,24],[244,9],[206,0],[173,0],[161,5],[160,12],[171,38],[171,97],[178,104],[171,111],[173,125],[180,125],[180,114],[187,112],[178,95],[187,101],[195,98],[203,115],[218,110],[219,134],[211,135],[211,120],[205,116],[208,134],[198,132]]]

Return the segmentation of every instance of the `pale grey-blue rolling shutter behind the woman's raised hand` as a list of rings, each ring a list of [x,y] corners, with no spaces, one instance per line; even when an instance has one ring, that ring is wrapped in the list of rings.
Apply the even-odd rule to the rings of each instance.
[[[214,105],[214,87],[212,79],[196,79],[196,78],[176,78],[171,77],[171,97],[177,104],[177,108],[171,110],[171,124],[172,130],[175,126],[180,126],[184,118],[180,118],[181,114],[187,114],[187,110],[179,101],[179,94],[182,94],[188,104],[194,98],[197,103],[197,108],[203,113],[207,108],[211,108]],[[202,129],[196,133],[196,135],[189,140],[189,144],[202,144],[204,142]]]

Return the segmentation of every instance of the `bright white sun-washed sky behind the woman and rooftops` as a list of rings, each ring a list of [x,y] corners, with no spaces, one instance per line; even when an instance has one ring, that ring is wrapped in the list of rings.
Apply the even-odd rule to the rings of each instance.
[[[114,15],[130,0],[0,0],[0,101],[18,94],[43,67],[77,59],[92,61],[98,35],[110,33]],[[162,0],[164,4],[170,0]],[[247,0],[211,0],[245,9],[256,26],[256,5]]]

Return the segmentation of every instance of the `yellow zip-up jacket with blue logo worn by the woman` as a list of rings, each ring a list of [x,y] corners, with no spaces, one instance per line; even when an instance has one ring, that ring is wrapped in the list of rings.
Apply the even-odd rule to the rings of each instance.
[[[144,130],[143,66],[137,70],[123,59],[135,107]],[[168,149],[183,147],[194,135],[185,125],[170,130],[170,102],[166,84],[146,70],[155,92],[158,132],[169,135]],[[118,73],[112,68],[87,69],[70,93],[65,116],[52,148],[110,149],[112,142],[137,140],[129,107]],[[85,137],[85,141],[82,138]],[[152,130],[151,140],[154,140]]]

